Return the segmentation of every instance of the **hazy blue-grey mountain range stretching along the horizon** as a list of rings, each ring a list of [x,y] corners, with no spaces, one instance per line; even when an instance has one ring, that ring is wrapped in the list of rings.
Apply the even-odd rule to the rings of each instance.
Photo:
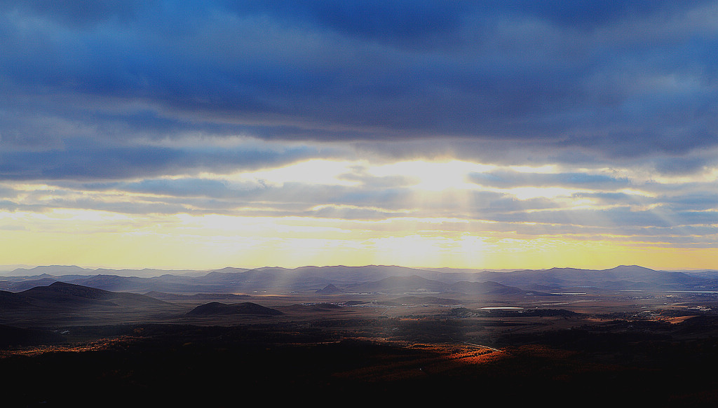
[[[418,269],[399,266],[226,267],[210,271],[87,270],[76,266],[35,267],[0,277],[0,290],[22,292],[53,283],[99,290],[164,293],[482,293],[548,295],[561,290],[716,290],[717,271],[671,272],[637,265],[606,270],[554,267],[548,270]],[[40,272],[29,275],[29,272]],[[94,273],[93,273],[94,272]],[[329,286],[331,285],[331,286]],[[317,292],[318,291],[318,292]]]

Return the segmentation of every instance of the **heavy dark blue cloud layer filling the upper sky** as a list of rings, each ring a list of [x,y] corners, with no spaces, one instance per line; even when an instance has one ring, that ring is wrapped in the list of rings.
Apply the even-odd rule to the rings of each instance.
[[[561,151],[661,153],[681,158],[660,171],[700,169],[690,155],[718,144],[717,10],[715,1],[1,1],[0,115],[12,120],[0,137],[20,150],[4,157],[4,174],[89,176],[72,149],[17,169],[32,162],[22,151],[72,137],[38,121],[72,123],[98,144],[187,131],[439,138],[551,146],[566,160],[574,156]],[[106,169],[92,170],[153,175],[187,160],[134,148],[136,161],[108,147],[98,156]]]

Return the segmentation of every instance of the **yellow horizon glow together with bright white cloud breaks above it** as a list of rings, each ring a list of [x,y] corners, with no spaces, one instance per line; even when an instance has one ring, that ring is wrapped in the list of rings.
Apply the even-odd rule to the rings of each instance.
[[[499,189],[469,181],[470,174],[495,169],[498,167],[456,160],[401,161],[374,166],[366,161],[312,160],[226,177],[202,174],[205,179],[220,180],[229,187],[233,182],[246,181],[261,186],[259,193],[269,191],[269,195],[259,196],[248,204],[228,207],[226,214],[194,210],[134,214],[82,208],[5,211],[0,212],[0,264],[202,270],[268,265],[472,269],[602,269],[625,264],[654,269],[716,267],[715,247],[671,245],[658,239],[646,242],[645,237],[617,234],[615,229],[620,225],[601,218],[617,204],[602,204],[582,196],[601,191],[561,186]],[[560,171],[556,166],[514,166],[510,170],[522,174]],[[290,201],[278,201],[283,197],[285,184],[302,186],[302,180],[311,186],[339,188],[342,194],[357,189],[353,194],[360,198],[363,183],[372,178],[396,183],[388,189],[401,192],[396,194],[398,199],[312,203],[312,196],[297,196],[302,189],[294,189],[290,191],[295,194]],[[37,206],[50,207],[57,200],[54,188],[47,184],[25,183],[15,187],[27,194],[41,191],[42,194],[32,196],[31,204]],[[651,195],[640,189],[628,191],[625,186],[615,193],[638,198]],[[74,194],[78,199],[124,204],[131,209],[162,202],[161,195],[144,191]],[[493,194],[490,196],[493,199],[503,197],[504,202],[517,207],[505,210],[505,221],[491,219],[491,214],[483,217],[482,212],[475,212],[475,207],[484,205],[477,204],[480,196],[476,194]],[[552,202],[554,207],[524,210],[521,203],[531,199]],[[660,206],[631,205],[660,210]],[[562,224],[511,219],[513,214],[541,214],[546,210],[565,213]],[[594,219],[582,219],[585,213],[571,211],[592,212]],[[655,214],[666,217],[660,211]],[[665,222],[670,223],[671,219]],[[583,224],[600,228],[584,232]],[[608,227],[613,229],[604,232],[602,228]]]

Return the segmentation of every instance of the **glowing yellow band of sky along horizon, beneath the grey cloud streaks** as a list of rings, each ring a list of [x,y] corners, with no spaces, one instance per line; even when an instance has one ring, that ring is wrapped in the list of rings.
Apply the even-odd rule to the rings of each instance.
[[[633,260],[668,268],[701,267],[718,256],[716,248],[647,246],[631,242],[630,237],[525,235],[519,227],[442,217],[370,222],[220,214],[0,212],[0,257],[26,264],[201,269],[279,262],[287,267],[376,263],[553,267],[557,260],[573,267],[610,267]],[[531,231],[536,227],[541,226],[534,225]]]

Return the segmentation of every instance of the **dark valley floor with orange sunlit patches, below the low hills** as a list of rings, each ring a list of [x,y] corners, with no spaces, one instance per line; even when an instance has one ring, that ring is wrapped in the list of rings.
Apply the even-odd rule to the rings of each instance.
[[[20,407],[233,407],[257,398],[322,405],[457,404],[465,397],[511,405],[718,402],[718,379],[704,374],[718,364],[712,313],[671,323],[671,316],[559,309],[404,308],[403,316],[327,310],[228,324],[215,317],[34,329],[62,338],[4,347],[0,372],[10,375],[2,400]]]

